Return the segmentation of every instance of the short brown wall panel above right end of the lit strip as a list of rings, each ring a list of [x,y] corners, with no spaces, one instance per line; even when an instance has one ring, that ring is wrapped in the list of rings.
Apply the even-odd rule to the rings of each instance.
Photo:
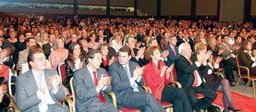
[[[131,7],[134,7],[134,0],[110,0],[110,6],[131,6]]]

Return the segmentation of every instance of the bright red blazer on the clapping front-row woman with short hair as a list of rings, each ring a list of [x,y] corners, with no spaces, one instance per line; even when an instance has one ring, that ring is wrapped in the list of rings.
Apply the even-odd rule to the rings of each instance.
[[[161,101],[162,90],[164,89],[164,84],[169,84],[171,82],[171,76],[167,79],[166,72],[164,73],[164,77],[160,77],[160,72],[163,66],[166,64],[162,61],[158,63],[159,68],[150,61],[143,68],[143,77],[145,79],[146,86],[150,87],[152,90],[153,96],[157,99],[157,101]]]

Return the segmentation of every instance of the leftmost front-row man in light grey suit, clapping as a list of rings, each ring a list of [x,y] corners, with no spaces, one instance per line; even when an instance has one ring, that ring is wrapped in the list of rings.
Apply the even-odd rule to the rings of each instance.
[[[60,85],[58,73],[46,69],[43,51],[29,53],[27,62],[30,70],[19,75],[16,81],[18,109],[24,112],[68,112],[68,108],[59,103],[68,91]]]

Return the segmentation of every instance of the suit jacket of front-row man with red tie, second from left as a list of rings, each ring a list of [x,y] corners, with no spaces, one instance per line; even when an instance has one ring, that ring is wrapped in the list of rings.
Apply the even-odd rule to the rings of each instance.
[[[106,73],[103,68],[97,69],[97,79],[101,80],[101,75]],[[87,66],[76,71],[74,73],[74,89],[76,94],[76,110],[78,112],[87,111],[87,107],[92,105],[100,105],[99,94],[96,91],[96,86],[94,85],[94,80],[92,79]],[[106,87],[106,89],[101,90],[101,93],[105,97],[106,101],[109,101],[106,93],[111,91],[111,85]],[[100,106],[98,106],[100,107]]]

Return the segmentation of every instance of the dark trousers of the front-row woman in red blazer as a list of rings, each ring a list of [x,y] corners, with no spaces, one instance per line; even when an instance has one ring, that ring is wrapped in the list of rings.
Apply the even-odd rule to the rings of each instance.
[[[165,85],[164,90],[162,90],[162,101],[169,101],[173,104],[174,112],[192,112],[193,109],[190,106],[187,94],[185,94],[183,89],[167,87]]]

